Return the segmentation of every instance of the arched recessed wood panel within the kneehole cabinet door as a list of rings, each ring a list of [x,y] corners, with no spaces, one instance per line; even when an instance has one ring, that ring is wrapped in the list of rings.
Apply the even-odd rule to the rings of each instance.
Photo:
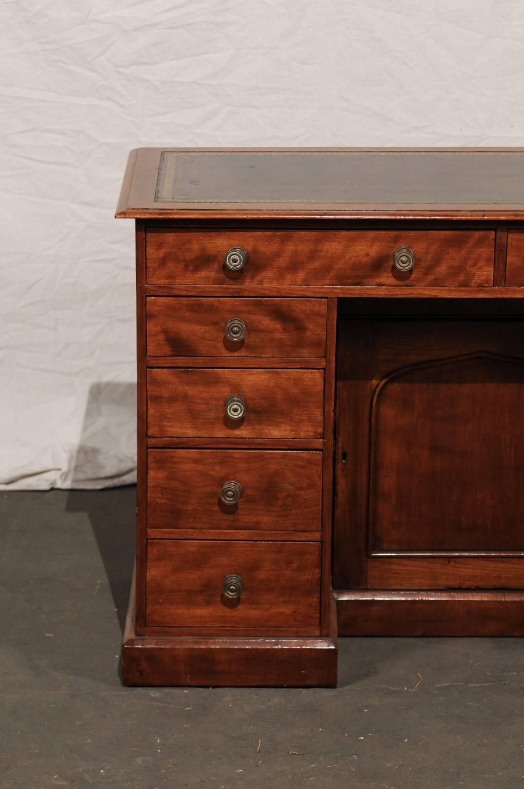
[[[524,361],[473,353],[376,388],[369,538],[376,552],[524,550]]]

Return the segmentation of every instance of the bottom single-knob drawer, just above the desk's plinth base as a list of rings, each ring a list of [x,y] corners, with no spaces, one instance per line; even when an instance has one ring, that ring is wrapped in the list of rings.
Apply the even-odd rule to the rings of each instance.
[[[229,575],[243,583],[236,599],[223,594]],[[320,543],[148,540],[150,627],[318,627],[319,617]]]

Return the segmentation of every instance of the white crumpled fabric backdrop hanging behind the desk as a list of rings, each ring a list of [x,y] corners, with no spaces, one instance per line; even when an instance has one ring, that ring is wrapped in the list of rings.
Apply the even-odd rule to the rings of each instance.
[[[148,145],[522,145],[515,0],[4,0],[2,488],[135,479]]]

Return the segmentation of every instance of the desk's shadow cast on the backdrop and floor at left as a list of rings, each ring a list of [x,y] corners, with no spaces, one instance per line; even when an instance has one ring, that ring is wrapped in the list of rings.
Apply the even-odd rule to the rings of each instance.
[[[66,511],[88,514],[122,633],[135,557],[136,424],[136,383],[92,384],[66,501]],[[108,447],[116,443],[118,431],[117,454]],[[93,479],[92,488],[110,487],[78,489]]]

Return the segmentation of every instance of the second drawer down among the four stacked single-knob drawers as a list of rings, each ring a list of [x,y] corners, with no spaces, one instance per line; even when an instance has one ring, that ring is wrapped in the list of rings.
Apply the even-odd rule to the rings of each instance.
[[[322,438],[323,390],[322,370],[149,369],[148,436]]]

